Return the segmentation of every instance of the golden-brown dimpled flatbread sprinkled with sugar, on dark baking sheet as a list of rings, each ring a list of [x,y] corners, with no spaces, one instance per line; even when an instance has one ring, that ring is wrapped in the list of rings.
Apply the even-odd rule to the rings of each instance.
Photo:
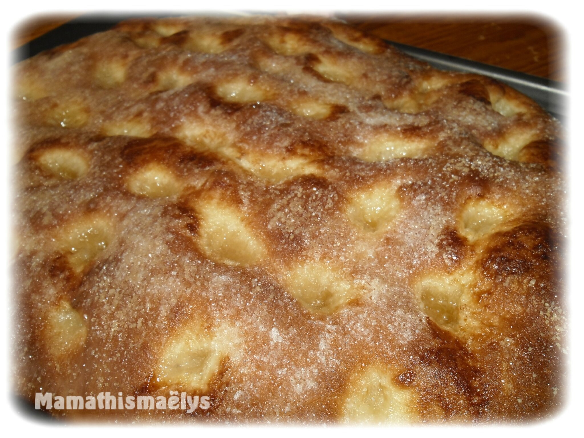
[[[526,96],[319,18],[130,20],[14,84],[22,397],[168,398],[50,411],[135,421],[561,405],[561,131]]]

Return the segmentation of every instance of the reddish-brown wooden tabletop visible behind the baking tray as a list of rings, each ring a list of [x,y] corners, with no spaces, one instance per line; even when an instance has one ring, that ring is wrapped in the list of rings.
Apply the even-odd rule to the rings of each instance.
[[[562,32],[534,16],[345,16],[339,18],[386,40],[427,48],[498,67],[564,81]],[[74,16],[45,16],[22,23],[13,47]]]

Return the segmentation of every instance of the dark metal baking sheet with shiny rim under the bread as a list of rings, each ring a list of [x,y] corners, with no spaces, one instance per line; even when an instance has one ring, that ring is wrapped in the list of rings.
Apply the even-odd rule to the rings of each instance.
[[[188,14],[156,13],[155,15],[143,14],[140,16],[161,18],[183,15]],[[18,48],[15,51],[15,61],[18,62],[24,60],[40,53],[41,51],[60,46],[61,44],[73,43],[74,41],[91,35],[92,33],[103,32],[104,30],[111,29],[121,20],[128,18],[137,18],[137,15],[83,15]],[[560,82],[419,47],[394,43],[393,41],[388,41],[388,43],[415,58],[432,64],[436,68],[477,73],[505,82],[505,84],[512,86],[517,91],[522,92],[524,95],[535,100],[541,105],[541,107],[547,110],[547,112],[551,113],[552,116],[557,117],[558,119],[564,119],[566,116],[566,100],[568,98],[568,93],[565,91],[564,85]]]

